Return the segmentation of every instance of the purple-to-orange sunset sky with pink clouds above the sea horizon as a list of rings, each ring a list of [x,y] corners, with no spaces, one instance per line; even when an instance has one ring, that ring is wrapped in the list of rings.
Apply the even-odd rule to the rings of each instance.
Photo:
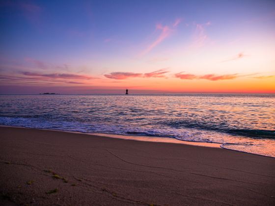
[[[0,1],[0,94],[126,88],[275,93],[275,1]]]

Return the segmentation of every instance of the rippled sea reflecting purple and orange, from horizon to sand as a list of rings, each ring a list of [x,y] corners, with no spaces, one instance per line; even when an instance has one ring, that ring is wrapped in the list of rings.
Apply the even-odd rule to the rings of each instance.
[[[0,95],[0,124],[216,142],[275,157],[275,94]]]

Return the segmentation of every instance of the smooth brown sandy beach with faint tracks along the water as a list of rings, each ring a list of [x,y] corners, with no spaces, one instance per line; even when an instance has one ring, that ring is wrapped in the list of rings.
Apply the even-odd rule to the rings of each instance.
[[[275,158],[0,128],[0,205],[275,205]]]

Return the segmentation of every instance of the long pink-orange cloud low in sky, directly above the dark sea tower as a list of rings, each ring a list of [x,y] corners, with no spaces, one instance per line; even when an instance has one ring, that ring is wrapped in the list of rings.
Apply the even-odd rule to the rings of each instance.
[[[150,73],[132,73],[132,72],[112,72],[109,75],[104,75],[107,78],[114,78],[114,79],[127,79],[127,78],[134,78],[134,77],[140,77],[140,78],[150,78],[150,77],[158,77],[162,78],[165,77],[164,74],[168,73],[167,68],[160,69],[154,72]]]

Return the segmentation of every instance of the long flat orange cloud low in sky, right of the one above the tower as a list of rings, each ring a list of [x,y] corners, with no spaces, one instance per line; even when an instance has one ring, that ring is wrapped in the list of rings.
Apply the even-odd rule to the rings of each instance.
[[[175,77],[180,79],[207,79],[211,81],[217,81],[217,80],[228,80],[228,79],[235,79],[238,76],[238,74],[232,74],[232,75],[214,75],[214,74],[208,74],[208,75],[193,75],[193,74],[183,74],[177,73],[175,74]]]

